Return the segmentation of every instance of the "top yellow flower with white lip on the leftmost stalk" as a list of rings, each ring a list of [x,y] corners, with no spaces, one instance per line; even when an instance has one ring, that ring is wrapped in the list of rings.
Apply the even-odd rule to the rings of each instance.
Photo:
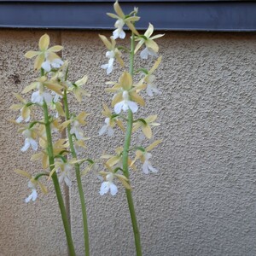
[[[45,66],[48,66],[48,64],[50,63],[54,63],[55,65],[57,65],[58,61],[55,61],[55,60],[61,60],[60,56],[56,55],[55,52],[60,51],[61,49],[63,49],[63,47],[61,45],[55,45],[48,49],[49,36],[47,34],[44,34],[44,36],[42,36],[39,39],[38,46],[39,46],[38,51],[30,50],[25,55],[25,57],[28,59],[31,59],[32,57],[37,56],[34,63],[34,68],[36,70],[39,70],[42,67],[42,64],[46,61],[48,62],[45,63]],[[59,64],[61,65],[61,62],[59,62]],[[46,67],[46,69],[47,69],[46,71],[49,71],[49,66]]]

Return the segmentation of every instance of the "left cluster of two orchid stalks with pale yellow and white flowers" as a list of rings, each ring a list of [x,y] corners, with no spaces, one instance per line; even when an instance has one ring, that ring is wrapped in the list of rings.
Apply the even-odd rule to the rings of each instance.
[[[89,236],[81,175],[90,169],[93,161],[90,159],[78,160],[76,153],[79,148],[84,148],[86,138],[84,138],[81,125],[85,125],[84,118],[88,114],[85,112],[78,115],[69,113],[67,103],[67,93],[70,92],[73,92],[79,102],[81,102],[83,95],[89,96],[81,88],[86,83],[87,77],[84,76],[83,79],[75,83],[67,80],[67,61],[63,62],[60,56],[55,54],[61,49],[61,45],[49,48],[49,36],[45,34],[39,40],[39,50],[28,51],[25,55],[26,58],[36,56],[34,68],[40,71],[40,77],[22,91],[26,94],[34,90],[31,100],[27,102],[20,95],[15,94],[20,104],[15,104],[11,108],[20,110],[20,116],[15,120],[15,123],[20,125],[19,131],[25,137],[25,145],[21,148],[21,151],[25,152],[30,147],[35,151],[38,150],[39,141],[42,151],[33,154],[32,160],[42,160],[44,172],[36,175],[23,170],[15,170],[15,172],[29,178],[28,187],[32,189],[32,194],[26,198],[26,202],[37,199],[38,186],[44,193],[47,193],[46,186],[39,179],[46,176],[48,180],[50,178],[53,180],[67,236],[69,253],[75,255],[71,229],[60,188],[60,183],[66,183],[68,187],[71,186],[71,172],[73,168],[75,169],[84,222],[85,255],[89,256]],[[38,111],[38,109],[43,111],[43,117],[40,116],[40,110]],[[65,119],[64,122],[63,119]],[[61,137],[61,131],[65,128],[67,128],[67,138]],[[67,159],[69,154],[72,155],[72,159]],[[80,172],[80,165],[84,162],[88,162],[89,165],[83,172]]]

